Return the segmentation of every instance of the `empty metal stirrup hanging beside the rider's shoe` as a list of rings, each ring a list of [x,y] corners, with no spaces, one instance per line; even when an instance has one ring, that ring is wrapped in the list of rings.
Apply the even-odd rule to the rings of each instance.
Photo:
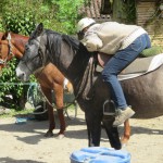
[[[105,108],[106,104],[109,104],[109,108]],[[105,100],[103,102],[103,115],[115,115],[115,104],[113,100]]]

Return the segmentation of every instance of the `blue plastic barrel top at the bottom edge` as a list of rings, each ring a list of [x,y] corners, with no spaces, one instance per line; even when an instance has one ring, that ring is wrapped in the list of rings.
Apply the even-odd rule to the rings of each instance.
[[[130,163],[130,154],[125,150],[89,147],[73,152],[71,163]]]

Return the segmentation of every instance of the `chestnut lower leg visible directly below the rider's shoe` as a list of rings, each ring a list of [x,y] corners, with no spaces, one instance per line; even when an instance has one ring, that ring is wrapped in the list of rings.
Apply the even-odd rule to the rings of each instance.
[[[129,137],[130,137],[130,125],[129,120],[126,120],[124,123],[124,135],[121,139],[123,146],[125,146],[128,142]]]

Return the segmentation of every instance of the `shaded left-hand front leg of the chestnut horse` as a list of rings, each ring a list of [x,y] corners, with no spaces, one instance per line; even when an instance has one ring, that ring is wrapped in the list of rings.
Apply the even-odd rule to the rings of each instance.
[[[49,117],[49,129],[45,134],[45,137],[52,137],[53,136],[52,130],[55,128],[55,122],[54,122],[54,114],[53,114],[53,108],[52,108],[51,89],[41,86],[41,90],[48,100],[47,109],[48,109],[48,117]]]

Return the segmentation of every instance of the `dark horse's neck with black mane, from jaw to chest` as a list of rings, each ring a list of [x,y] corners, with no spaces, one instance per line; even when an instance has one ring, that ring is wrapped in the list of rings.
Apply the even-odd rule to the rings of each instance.
[[[84,75],[87,74],[90,53],[79,41],[66,36],[47,38],[50,61],[71,80],[75,93],[83,91],[86,86],[87,76],[85,78]]]

